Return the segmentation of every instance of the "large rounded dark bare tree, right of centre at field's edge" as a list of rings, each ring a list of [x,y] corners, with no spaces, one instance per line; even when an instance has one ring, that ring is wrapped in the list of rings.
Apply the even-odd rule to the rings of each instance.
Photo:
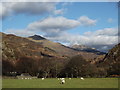
[[[82,76],[84,71],[84,67],[88,62],[83,59],[82,56],[74,56],[70,59],[66,67],[62,70],[62,77],[79,77]]]

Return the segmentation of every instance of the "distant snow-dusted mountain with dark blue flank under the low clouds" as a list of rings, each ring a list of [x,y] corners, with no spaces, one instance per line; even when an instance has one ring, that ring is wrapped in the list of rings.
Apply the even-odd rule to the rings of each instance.
[[[104,52],[98,51],[95,48],[91,48],[91,47],[88,47],[88,46],[85,46],[85,45],[73,45],[73,46],[71,46],[71,48],[73,48],[75,50],[78,50],[78,51],[95,53],[95,54],[98,54],[98,55],[106,54]]]

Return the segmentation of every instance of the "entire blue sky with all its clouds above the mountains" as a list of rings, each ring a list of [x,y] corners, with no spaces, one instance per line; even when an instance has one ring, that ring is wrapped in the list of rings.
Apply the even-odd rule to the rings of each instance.
[[[0,7],[1,32],[7,34],[37,34],[100,51],[118,43],[117,2],[4,2]]]

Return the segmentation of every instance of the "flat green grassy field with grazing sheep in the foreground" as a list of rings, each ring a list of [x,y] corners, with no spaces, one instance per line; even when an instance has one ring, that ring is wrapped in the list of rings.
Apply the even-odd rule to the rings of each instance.
[[[45,80],[3,79],[3,88],[118,88],[118,78],[72,78],[60,84],[57,78]]]

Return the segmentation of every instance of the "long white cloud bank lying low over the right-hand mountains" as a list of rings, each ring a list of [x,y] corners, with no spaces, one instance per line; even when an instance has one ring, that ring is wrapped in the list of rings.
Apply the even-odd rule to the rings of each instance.
[[[105,31],[105,32],[104,32]],[[109,32],[110,31],[110,32]],[[47,37],[52,41],[69,43],[69,45],[80,44],[97,48],[101,51],[107,51],[118,43],[117,28],[105,28],[95,32],[87,32],[87,35],[74,35],[67,32],[60,33],[56,37]]]

